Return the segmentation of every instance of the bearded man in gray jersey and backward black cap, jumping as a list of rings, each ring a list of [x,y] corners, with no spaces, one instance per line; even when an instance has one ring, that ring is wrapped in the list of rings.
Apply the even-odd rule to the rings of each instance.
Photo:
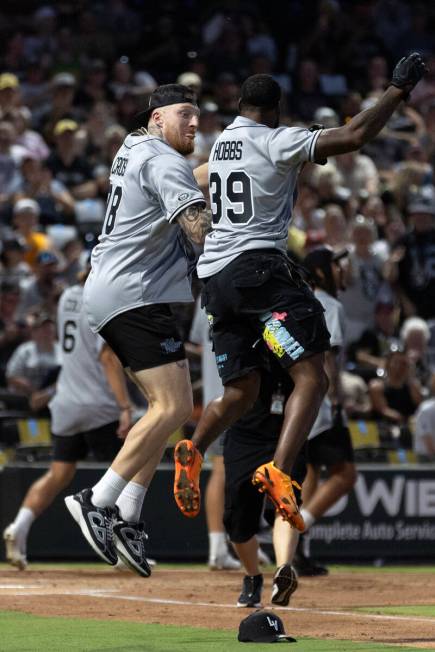
[[[188,162],[199,109],[179,84],[158,87],[141,115],[147,128],[129,134],[115,156],[92,271],[85,286],[91,328],[117,354],[148,402],[100,482],[65,499],[94,550],[118,556],[142,576],[146,561],[144,496],[168,437],[189,418],[192,392],[184,346],[171,303],[192,301],[192,244],[202,244],[211,215]],[[115,508],[129,487],[135,513]]]

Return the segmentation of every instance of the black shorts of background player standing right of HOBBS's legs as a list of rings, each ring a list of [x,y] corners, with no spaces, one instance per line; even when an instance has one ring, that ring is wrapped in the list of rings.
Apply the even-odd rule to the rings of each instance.
[[[353,462],[353,446],[349,428],[337,426],[309,439],[307,464],[313,466],[334,466],[342,462]]]

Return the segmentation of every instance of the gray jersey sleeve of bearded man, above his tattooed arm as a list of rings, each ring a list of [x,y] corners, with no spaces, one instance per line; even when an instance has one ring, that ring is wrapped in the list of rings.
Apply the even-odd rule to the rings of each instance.
[[[158,196],[168,222],[173,222],[188,206],[198,203],[205,206],[204,195],[193,172],[181,156],[154,156],[143,166],[141,177],[146,189]]]

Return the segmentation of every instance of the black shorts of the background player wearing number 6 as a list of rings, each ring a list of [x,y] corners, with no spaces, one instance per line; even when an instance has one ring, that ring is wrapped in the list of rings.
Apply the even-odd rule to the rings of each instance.
[[[123,441],[116,435],[118,421],[76,435],[52,435],[53,461],[78,462],[89,458],[96,462],[111,462]]]

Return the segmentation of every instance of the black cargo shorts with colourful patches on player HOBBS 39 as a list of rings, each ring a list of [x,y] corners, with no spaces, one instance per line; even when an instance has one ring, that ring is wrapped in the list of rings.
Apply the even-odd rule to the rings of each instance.
[[[202,302],[224,384],[267,367],[267,349],[284,369],[329,349],[323,306],[284,254],[248,251],[204,283]]]

